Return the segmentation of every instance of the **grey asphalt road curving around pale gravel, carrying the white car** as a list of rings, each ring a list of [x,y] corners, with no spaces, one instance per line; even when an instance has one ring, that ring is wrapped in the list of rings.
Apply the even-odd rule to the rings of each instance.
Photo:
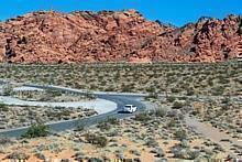
[[[64,88],[64,87],[41,86],[41,85],[33,85],[33,84],[26,84],[24,86],[36,87],[36,88],[42,88],[42,89],[57,89],[57,90],[75,93],[75,94],[84,93],[81,90]],[[51,131],[53,131],[53,132],[65,131],[65,130],[69,130],[69,129],[75,129],[78,126],[88,127],[91,125],[96,125],[96,123],[103,121],[108,118],[122,119],[122,118],[132,116],[132,114],[121,112],[123,106],[127,104],[135,105],[138,107],[138,112],[145,109],[144,104],[142,104],[140,101],[142,96],[139,96],[139,95],[118,95],[118,94],[117,95],[114,95],[114,94],[109,95],[109,94],[105,94],[105,93],[100,93],[100,94],[96,93],[96,96],[98,98],[107,99],[107,100],[116,102],[117,109],[109,111],[107,114],[97,115],[97,116],[92,116],[92,117],[88,117],[88,118],[64,120],[64,121],[57,121],[57,122],[48,122],[46,125],[50,127]],[[24,134],[24,132],[26,132],[28,128],[29,127],[21,127],[21,128],[0,130],[0,136],[20,138],[22,134]]]

